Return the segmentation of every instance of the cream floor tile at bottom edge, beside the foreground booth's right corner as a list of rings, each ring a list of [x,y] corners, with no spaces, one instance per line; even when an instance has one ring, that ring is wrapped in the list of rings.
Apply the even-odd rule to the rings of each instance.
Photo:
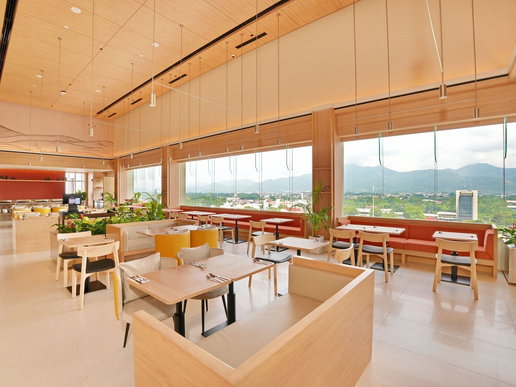
[[[373,356],[362,374],[363,378],[386,387],[511,385],[378,340],[373,340]]]

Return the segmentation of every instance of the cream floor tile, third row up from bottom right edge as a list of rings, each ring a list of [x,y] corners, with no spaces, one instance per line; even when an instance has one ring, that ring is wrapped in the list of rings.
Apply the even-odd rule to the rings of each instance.
[[[516,328],[503,322],[404,300],[396,302],[389,316],[516,350]]]

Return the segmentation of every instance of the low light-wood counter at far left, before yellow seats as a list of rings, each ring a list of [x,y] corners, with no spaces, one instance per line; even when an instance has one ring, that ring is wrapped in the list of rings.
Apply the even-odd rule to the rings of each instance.
[[[12,219],[12,249],[17,254],[50,250],[49,234],[55,230],[57,220],[46,216]]]

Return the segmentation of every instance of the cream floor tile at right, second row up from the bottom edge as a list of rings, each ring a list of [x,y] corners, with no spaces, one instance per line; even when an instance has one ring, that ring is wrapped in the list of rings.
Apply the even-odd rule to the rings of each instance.
[[[516,381],[516,351],[511,349],[389,316],[374,337],[505,383]]]

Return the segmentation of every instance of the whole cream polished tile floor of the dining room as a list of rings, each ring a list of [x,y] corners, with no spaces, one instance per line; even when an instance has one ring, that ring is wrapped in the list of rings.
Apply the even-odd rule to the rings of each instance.
[[[112,290],[88,294],[77,310],[78,299],[54,280],[49,252],[14,254],[10,227],[0,223],[0,386],[133,385],[132,335],[123,349]],[[246,255],[246,244],[224,248]],[[278,272],[285,289],[286,265]],[[389,283],[383,277],[376,271],[373,358],[357,386],[516,385],[516,286],[503,273],[479,277],[479,301],[471,288],[446,282],[432,292],[430,266],[408,264]],[[266,272],[235,291],[239,317],[276,298]],[[206,327],[223,319],[222,302],[210,301]],[[190,341],[202,339],[200,301],[188,301],[186,327]]]

